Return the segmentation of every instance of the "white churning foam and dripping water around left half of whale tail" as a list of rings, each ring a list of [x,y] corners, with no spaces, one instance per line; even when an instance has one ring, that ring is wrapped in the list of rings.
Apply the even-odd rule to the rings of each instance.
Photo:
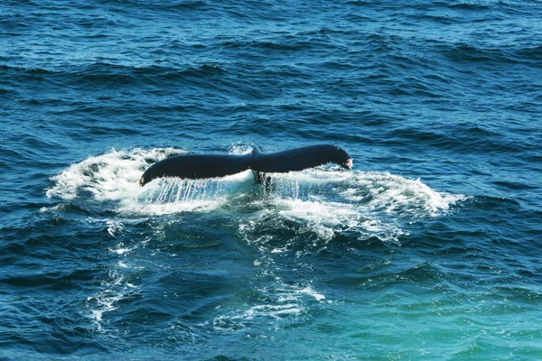
[[[180,153],[185,152],[174,148],[112,149],[72,164],[52,177],[54,184],[46,195],[50,199],[72,200],[87,194],[97,202],[116,202],[115,210],[119,213],[164,215],[218,208],[228,198],[231,184],[252,177],[249,171],[245,171],[217,180],[162,179],[145,187],[139,186],[139,178],[148,167],[148,160],[158,162]],[[115,236],[117,228],[109,227],[108,232]]]

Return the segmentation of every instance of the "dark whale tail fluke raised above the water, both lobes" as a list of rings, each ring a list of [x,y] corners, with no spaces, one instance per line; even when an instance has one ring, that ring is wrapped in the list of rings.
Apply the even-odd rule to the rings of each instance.
[[[335,145],[318,144],[276,153],[261,153],[254,148],[246,154],[181,154],[151,165],[141,176],[139,184],[156,178],[177,177],[200,180],[218,178],[241,171],[257,173],[285,173],[303,171],[329,162],[350,170],[352,159],[346,151]]]

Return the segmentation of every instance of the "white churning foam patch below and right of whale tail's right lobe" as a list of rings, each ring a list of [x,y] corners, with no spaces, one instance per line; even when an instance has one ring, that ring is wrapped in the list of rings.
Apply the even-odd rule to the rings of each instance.
[[[251,243],[266,243],[261,231],[269,221],[285,218],[301,222],[322,240],[337,232],[350,231],[360,239],[377,236],[383,242],[398,242],[407,235],[406,224],[419,218],[445,214],[462,195],[432,190],[421,180],[410,180],[388,172],[341,171],[332,168],[276,174],[266,207],[239,225]],[[271,206],[271,207],[269,207]],[[257,239],[252,234],[258,234]],[[288,245],[267,250],[285,253]]]

